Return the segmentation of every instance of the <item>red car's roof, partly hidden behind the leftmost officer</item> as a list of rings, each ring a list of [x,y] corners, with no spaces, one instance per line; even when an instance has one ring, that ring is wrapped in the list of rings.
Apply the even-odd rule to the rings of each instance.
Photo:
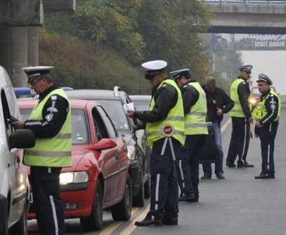
[[[70,99],[72,108],[84,109],[90,103],[100,105],[98,102],[84,99]],[[18,99],[19,108],[33,108],[38,103],[38,99]]]

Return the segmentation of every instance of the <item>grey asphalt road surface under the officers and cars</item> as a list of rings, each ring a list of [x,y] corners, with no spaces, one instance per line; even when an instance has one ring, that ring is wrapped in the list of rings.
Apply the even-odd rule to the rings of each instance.
[[[227,168],[224,180],[200,181],[200,202],[180,204],[178,226],[135,227],[134,221],[148,211],[134,208],[130,222],[113,222],[104,213],[101,232],[84,233],[79,220],[67,220],[67,234],[194,234],[194,235],[285,235],[286,234],[286,108],[276,137],[276,179],[254,179],[261,170],[260,141],[251,140],[248,162],[255,168]],[[225,122],[226,123],[226,122]],[[224,153],[228,152],[231,125],[223,132]],[[202,170],[201,170],[202,173]],[[37,234],[35,221],[29,234]]]

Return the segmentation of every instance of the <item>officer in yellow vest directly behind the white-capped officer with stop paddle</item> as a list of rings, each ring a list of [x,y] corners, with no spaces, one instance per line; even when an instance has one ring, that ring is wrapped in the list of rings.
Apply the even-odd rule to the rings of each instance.
[[[182,147],[182,156],[178,160],[181,172],[179,174],[181,176],[179,178],[181,181],[180,186],[185,183],[186,188],[181,187],[182,194],[179,201],[198,202],[199,160],[208,135],[206,123],[207,99],[200,83],[195,79],[191,79],[189,69],[177,70],[171,72],[171,74],[178,86],[182,88],[185,115],[184,132],[186,134],[186,143]],[[180,163],[181,158],[182,161],[187,162]],[[189,171],[186,168],[189,168]],[[182,176],[184,176],[184,181]]]

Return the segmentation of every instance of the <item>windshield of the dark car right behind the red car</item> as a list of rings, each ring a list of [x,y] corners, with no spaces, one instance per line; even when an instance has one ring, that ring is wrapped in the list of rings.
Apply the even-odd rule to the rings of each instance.
[[[122,102],[120,100],[112,99],[100,99],[98,102],[100,102],[102,107],[106,110],[106,113],[109,114],[118,133],[129,133],[129,124],[127,116],[123,111]]]

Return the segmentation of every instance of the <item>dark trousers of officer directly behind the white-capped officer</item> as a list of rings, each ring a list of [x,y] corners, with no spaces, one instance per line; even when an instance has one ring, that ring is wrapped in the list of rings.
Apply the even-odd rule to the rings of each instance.
[[[184,146],[185,154],[188,154],[189,164],[185,167],[189,168],[190,172],[190,188],[191,193],[195,193],[196,197],[199,196],[198,183],[199,183],[199,161],[202,156],[202,149],[205,147],[205,140],[207,135],[193,135],[186,136],[186,142]]]

